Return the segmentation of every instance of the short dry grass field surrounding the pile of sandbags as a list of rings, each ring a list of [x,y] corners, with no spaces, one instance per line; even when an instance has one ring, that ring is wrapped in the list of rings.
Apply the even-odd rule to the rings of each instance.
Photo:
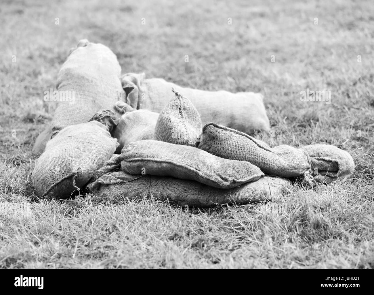
[[[1,214],[1,268],[374,267],[372,1],[3,0],[0,15],[0,204],[28,213]],[[37,199],[31,148],[56,107],[43,92],[83,38],[109,46],[123,73],[259,91],[272,132],[258,138],[336,145],[355,173],[210,210]],[[331,91],[331,103],[301,101],[307,88]]]

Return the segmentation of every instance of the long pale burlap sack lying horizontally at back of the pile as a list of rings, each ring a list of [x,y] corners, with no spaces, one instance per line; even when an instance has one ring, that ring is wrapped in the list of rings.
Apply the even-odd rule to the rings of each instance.
[[[203,91],[183,88],[164,79],[145,79],[145,74],[128,73],[122,76],[127,102],[136,109],[161,112],[170,100],[172,88],[187,97],[200,114],[203,124],[214,122],[253,133],[269,130],[270,124],[260,93]]]

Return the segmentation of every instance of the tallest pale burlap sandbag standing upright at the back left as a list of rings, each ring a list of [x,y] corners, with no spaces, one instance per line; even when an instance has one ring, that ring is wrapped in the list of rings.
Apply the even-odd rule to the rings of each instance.
[[[117,57],[108,47],[80,40],[58,73],[58,107],[48,131],[37,138],[34,153],[44,150],[43,143],[52,135],[50,128],[58,131],[88,122],[101,109],[116,111],[114,103],[125,98],[120,73]]]

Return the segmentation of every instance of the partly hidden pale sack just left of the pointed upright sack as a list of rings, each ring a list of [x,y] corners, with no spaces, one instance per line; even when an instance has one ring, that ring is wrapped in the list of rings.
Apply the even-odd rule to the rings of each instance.
[[[119,142],[116,153],[130,142],[153,139],[158,117],[158,113],[147,109],[125,112],[112,133]]]

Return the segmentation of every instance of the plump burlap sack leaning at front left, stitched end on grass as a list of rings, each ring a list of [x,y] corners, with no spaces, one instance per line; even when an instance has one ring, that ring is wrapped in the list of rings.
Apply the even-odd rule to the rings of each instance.
[[[97,122],[68,126],[47,142],[31,176],[37,194],[46,198],[69,198],[110,159],[117,140]]]

